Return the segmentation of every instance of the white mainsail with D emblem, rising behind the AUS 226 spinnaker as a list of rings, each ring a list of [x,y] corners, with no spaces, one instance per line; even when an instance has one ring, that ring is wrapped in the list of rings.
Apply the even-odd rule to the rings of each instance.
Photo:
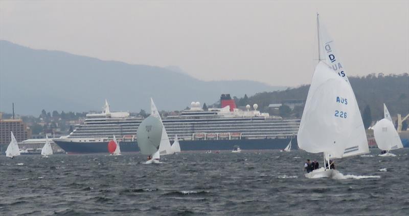
[[[349,83],[347,73],[344,69],[344,64],[342,64],[342,61],[340,61],[339,56],[336,53],[334,40],[332,40],[327,33],[325,25],[320,22],[319,15],[317,15],[317,25],[320,60],[327,63],[327,65],[329,65],[340,77]]]

